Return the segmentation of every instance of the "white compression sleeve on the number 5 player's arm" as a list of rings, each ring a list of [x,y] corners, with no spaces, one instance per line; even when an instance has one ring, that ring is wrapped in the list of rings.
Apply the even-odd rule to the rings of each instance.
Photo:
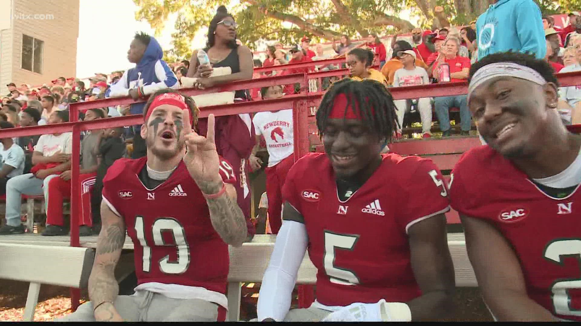
[[[258,320],[284,320],[300,264],[307,250],[309,236],[303,223],[284,220],[277,235],[274,251],[264,272],[258,297]]]

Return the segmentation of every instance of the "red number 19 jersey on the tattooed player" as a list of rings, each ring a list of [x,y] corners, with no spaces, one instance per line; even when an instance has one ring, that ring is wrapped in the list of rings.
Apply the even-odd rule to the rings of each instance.
[[[202,191],[184,162],[165,182],[147,189],[138,178],[146,161],[121,158],[103,179],[103,201],[123,217],[133,241],[138,284],[180,284],[225,294],[228,245],[211,224]],[[220,175],[225,183],[236,182],[222,158]]]

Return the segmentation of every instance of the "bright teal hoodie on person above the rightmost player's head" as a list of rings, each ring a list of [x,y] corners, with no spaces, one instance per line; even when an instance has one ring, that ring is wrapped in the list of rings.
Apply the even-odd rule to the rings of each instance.
[[[499,0],[476,21],[478,60],[497,52],[528,52],[544,59],[547,45],[533,0]]]

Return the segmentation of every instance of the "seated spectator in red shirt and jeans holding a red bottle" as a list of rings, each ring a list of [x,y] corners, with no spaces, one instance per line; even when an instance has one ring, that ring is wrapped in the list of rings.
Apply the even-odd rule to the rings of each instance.
[[[462,82],[468,79],[468,71],[470,70],[470,59],[467,57],[458,56],[458,49],[460,49],[460,40],[455,37],[449,37],[444,42],[443,52],[445,56],[440,56],[433,68],[433,78],[440,78],[440,64],[447,63],[450,67],[450,82]],[[437,119],[440,122],[440,130],[442,137],[450,136],[450,114],[451,107],[460,108],[460,127],[462,136],[468,136],[470,132],[470,111],[468,110],[468,100],[466,95],[441,96],[434,98],[434,109],[436,111]]]

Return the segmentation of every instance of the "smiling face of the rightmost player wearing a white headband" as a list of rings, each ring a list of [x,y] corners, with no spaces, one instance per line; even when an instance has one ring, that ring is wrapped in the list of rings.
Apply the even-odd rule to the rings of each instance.
[[[486,67],[485,67],[486,68]],[[497,77],[479,85],[468,107],[486,143],[505,157],[529,157],[544,143],[557,103],[557,89],[514,77]]]

